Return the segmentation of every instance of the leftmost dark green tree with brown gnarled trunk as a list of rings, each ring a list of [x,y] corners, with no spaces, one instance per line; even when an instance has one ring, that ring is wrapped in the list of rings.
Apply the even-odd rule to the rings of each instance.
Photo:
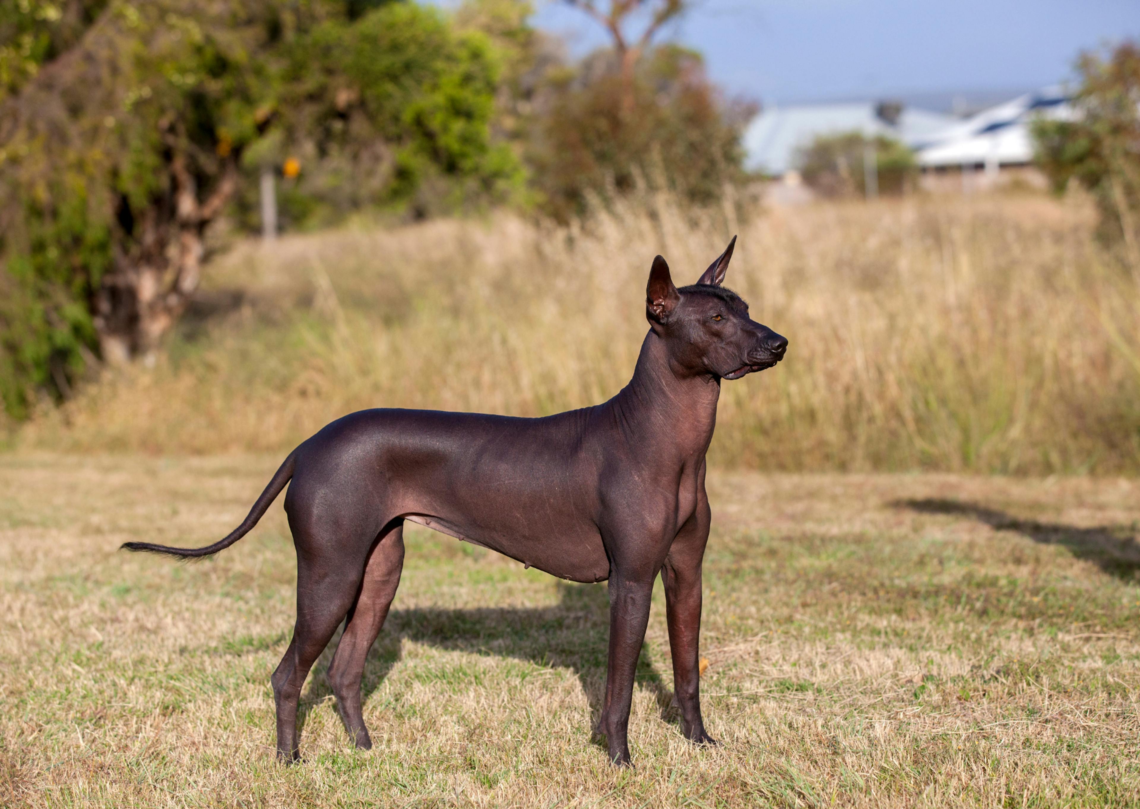
[[[104,8],[3,104],[0,393],[66,395],[96,354],[154,347],[196,289],[203,232],[255,134],[267,5]],[[235,126],[236,124],[236,126]],[[249,137],[246,137],[249,139]]]

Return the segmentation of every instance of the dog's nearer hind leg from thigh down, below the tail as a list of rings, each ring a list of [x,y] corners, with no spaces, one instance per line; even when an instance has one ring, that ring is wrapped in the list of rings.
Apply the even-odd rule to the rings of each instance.
[[[299,549],[336,547],[331,542],[316,541],[314,536],[298,536],[296,527],[293,533],[294,537],[303,539],[303,542],[298,542]],[[294,762],[300,758],[296,709],[301,687],[356,600],[364,576],[363,556],[368,547],[367,540],[361,544],[365,550],[353,559],[337,558],[331,552],[298,552],[296,625],[293,640],[271,678],[277,703],[277,755],[282,761]]]

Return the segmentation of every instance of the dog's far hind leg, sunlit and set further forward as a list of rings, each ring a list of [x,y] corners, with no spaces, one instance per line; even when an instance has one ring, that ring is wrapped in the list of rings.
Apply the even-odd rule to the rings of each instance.
[[[328,666],[328,683],[336,695],[336,709],[344,721],[344,729],[356,746],[363,750],[372,750],[372,737],[364,723],[360,680],[368,649],[376,641],[396,589],[400,585],[402,569],[404,521],[400,520],[386,534],[381,534],[368,556],[360,594],[349,612],[348,625]]]

